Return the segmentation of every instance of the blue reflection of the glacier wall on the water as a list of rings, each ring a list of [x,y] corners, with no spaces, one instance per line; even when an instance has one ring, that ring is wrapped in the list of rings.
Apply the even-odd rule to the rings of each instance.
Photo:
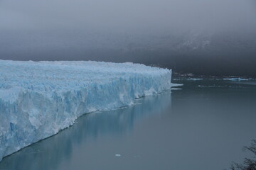
[[[149,116],[159,116],[170,105],[171,91],[166,91],[139,98],[134,106],[83,115],[72,127],[4,158],[0,169],[62,169],[59,167],[62,162],[73,159],[73,149],[82,149],[87,143],[97,142],[104,136],[125,136],[132,132],[135,123]]]

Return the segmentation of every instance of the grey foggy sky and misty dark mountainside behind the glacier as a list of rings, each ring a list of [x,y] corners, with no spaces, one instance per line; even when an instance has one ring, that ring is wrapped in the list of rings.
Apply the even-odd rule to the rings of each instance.
[[[252,0],[2,0],[0,59],[140,62],[256,77],[255,18]]]

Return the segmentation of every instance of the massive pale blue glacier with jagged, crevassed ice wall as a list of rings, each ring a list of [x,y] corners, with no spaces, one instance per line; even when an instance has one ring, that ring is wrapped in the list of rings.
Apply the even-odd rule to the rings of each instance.
[[[171,87],[171,70],[110,62],[0,60],[0,161],[84,113],[132,105]]]

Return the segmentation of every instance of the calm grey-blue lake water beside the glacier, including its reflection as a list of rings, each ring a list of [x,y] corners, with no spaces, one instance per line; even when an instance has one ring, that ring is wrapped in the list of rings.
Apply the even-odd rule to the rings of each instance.
[[[228,169],[256,138],[255,81],[183,84],[134,106],[83,115],[72,127],[5,157],[0,169]]]

